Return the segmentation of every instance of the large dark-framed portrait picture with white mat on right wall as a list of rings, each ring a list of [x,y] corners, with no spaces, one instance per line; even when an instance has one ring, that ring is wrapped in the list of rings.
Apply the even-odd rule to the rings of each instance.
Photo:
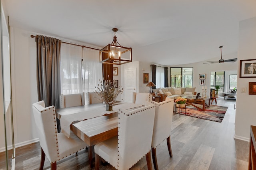
[[[240,78],[256,77],[256,59],[240,60]]]

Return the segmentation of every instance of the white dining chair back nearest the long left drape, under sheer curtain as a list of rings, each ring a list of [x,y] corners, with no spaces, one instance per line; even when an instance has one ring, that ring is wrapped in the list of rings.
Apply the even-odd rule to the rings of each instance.
[[[84,92],[70,95],[60,95],[60,108],[84,105]]]

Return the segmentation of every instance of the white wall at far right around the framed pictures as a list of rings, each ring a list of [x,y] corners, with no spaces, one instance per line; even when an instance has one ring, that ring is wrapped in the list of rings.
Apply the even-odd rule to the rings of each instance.
[[[245,59],[256,59],[256,17],[239,23],[238,60]],[[248,95],[249,82],[256,82],[256,78],[238,77],[235,138],[242,140],[249,140],[250,125],[256,126],[256,95]],[[242,87],[246,93],[241,93]]]

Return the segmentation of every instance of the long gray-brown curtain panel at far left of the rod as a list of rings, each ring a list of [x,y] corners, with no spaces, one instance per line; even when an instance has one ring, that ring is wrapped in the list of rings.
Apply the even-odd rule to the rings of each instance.
[[[46,107],[60,108],[60,45],[61,40],[36,35],[38,101]]]

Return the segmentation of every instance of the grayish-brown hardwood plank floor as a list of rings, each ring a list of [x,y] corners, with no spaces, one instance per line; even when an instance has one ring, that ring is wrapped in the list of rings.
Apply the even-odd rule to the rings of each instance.
[[[173,157],[170,158],[166,141],[156,148],[160,170],[246,170],[248,169],[249,144],[234,139],[234,101],[218,100],[218,105],[228,106],[222,123],[206,121],[184,115],[173,115],[171,144]],[[249,133],[249,132],[248,132]],[[2,156],[0,157],[2,160]],[[17,170],[38,169],[40,164],[39,143],[16,148]],[[152,165],[153,166],[153,165]],[[44,169],[50,168],[46,158]],[[0,168],[1,169],[1,168]],[[57,163],[58,170],[90,169],[88,153],[78,152]],[[110,165],[100,166],[107,170]],[[146,170],[146,156],[132,170]]]

